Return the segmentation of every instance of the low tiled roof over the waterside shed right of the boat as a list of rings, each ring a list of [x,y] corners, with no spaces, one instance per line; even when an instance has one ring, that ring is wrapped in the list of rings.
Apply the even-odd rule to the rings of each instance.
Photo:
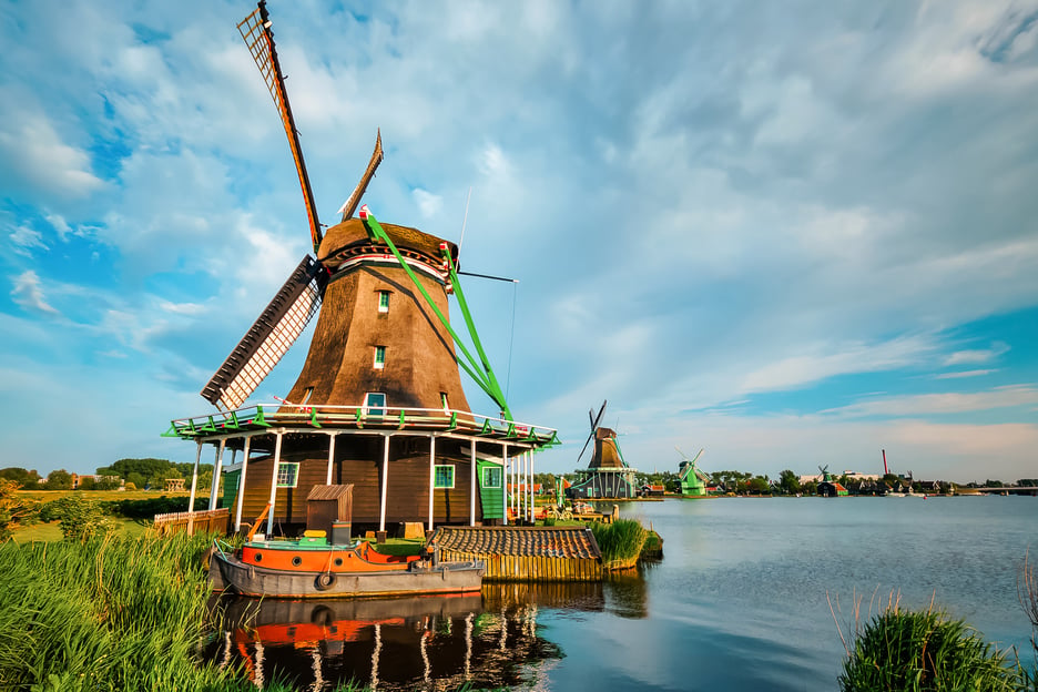
[[[439,527],[432,540],[440,549],[471,554],[539,558],[601,558],[584,527]]]

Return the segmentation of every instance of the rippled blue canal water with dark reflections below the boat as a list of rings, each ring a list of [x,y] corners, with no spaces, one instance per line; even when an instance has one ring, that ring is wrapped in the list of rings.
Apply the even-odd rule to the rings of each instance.
[[[257,686],[306,690],[832,690],[855,603],[864,621],[893,593],[908,608],[933,600],[1034,663],[1017,577],[1038,549],[1038,498],[668,499],[620,512],[663,536],[662,560],[604,583],[478,597],[225,599],[206,655],[245,665]]]

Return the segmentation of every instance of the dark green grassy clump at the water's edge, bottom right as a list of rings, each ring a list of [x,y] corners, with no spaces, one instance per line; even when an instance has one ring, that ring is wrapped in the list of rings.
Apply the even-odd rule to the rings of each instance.
[[[1021,689],[1018,669],[965,621],[933,609],[903,611],[893,598],[852,634],[847,653],[844,692]]]

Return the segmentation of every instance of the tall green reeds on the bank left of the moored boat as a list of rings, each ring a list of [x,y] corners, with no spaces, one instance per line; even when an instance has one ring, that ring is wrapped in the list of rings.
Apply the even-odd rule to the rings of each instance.
[[[207,537],[0,546],[0,689],[251,689],[197,660]]]

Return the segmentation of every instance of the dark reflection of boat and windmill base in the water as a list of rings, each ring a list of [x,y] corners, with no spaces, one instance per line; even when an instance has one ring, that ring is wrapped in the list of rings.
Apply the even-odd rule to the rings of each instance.
[[[224,597],[222,631],[204,655],[241,663],[257,688],[355,681],[379,690],[546,688],[563,657],[537,632],[539,608],[645,615],[637,577],[604,583],[485,584],[481,594],[289,601]]]

